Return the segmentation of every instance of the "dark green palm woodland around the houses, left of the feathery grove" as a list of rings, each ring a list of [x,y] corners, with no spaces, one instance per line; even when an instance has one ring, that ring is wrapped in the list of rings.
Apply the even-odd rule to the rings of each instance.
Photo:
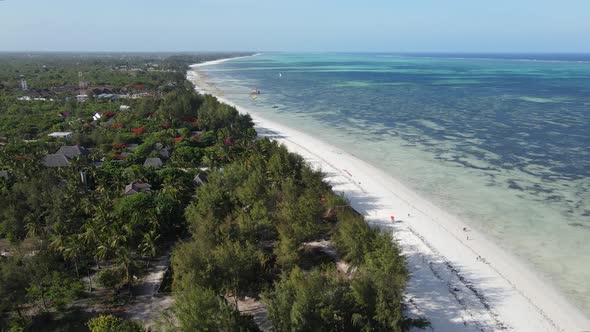
[[[227,163],[244,149],[242,141],[255,137],[249,117],[196,95],[184,78],[187,64],[224,56],[163,58],[155,64],[166,69],[158,71],[112,69],[156,61],[151,57],[0,58],[0,171],[6,175],[0,177],[0,329],[33,329],[39,317],[59,317],[73,304],[110,310],[102,305],[106,299],[127,302],[134,276],[186,234],[184,207],[202,172],[198,167]],[[33,68],[44,69],[23,91],[15,75],[31,75]],[[147,92],[78,102],[77,88],[60,87],[75,84],[79,68],[95,73],[98,82],[88,90],[141,82]],[[16,100],[38,85],[53,87],[54,100]],[[103,116],[93,120],[94,113]],[[47,137],[57,130],[73,137]],[[89,153],[71,158],[69,167],[45,167],[44,156],[63,145]],[[156,156],[165,167],[143,165]],[[125,195],[134,182],[152,190]],[[106,295],[104,288],[110,289]]]

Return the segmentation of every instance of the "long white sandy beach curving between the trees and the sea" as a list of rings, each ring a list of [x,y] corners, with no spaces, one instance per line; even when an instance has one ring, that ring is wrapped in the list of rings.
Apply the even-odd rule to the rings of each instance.
[[[193,66],[188,79],[197,91],[249,113],[259,135],[302,155],[369,223],[393,232],[411,274],[406,295],[410,315],[428,318],[433,331],[590,330],[590,321],[556,289],[467,223],[355,156],[216,93],[196,67],[222,61]]]

